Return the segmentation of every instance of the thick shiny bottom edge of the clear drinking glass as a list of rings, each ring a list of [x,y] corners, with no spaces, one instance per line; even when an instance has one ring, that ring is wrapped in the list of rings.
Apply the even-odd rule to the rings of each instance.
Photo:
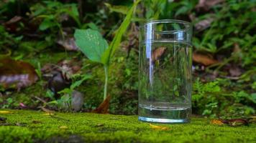
[[[139,117],[139,120],[142,122],[158,122],[158,123],[188,123],[189,119],[159,119],[159,118],[148,118],[148,117]]]

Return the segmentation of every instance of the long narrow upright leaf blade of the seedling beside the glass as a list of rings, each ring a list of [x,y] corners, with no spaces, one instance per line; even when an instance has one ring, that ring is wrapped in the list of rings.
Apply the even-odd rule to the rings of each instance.
[[[132,8],[129,9],[127,16],[125,17],[124,21],[122,22],[121,26],[119,27],[118,31],[116,32],[116,35],[114,36],[113,41],[111,41],[111,44],[108,49],[104,52],[101,62],[104,63],[104,65],[109,65],[109,61],[111,56],[113,56],[114,51],[119,47],[119,44],[121,43],[122,35],[127,30],[127,27],[129,26],[132,15],[134,12],[134,9],[136,9],[137,4],[139,4],[140,0],[136,1]]]

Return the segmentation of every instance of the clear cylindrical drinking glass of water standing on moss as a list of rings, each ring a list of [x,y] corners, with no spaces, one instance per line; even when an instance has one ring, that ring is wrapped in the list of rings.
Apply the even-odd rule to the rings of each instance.
[[[139,120],[189,122],[192,28],[180,20],[150,21],[140,28]]]

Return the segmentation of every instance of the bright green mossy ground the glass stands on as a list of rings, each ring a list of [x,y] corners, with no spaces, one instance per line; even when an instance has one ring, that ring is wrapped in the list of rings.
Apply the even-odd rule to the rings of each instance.
[[[256,142],[256,124],[242,127],[209,124],[192,118],[189,124],[156,124],[152,129],[137,116],[0,110],[7,126],[0,126],[0,142]],[[9,111],[4,113],[3,111]]]

